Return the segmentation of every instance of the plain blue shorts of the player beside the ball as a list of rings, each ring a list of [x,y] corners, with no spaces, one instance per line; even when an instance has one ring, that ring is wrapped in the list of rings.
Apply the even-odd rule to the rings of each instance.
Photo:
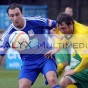
[[[22,66],[19,74],[19,79],[27,78],[28,80],[32,81],[32,84],[35,82],[40,72],[44,74],[44,76],[49,71],[57,72],[57,66],[53,59],[46,59],[46,61],[43,61],[41,63],[37,63],[37,61],[27,61],[27,63],[29,64],[24,64]]]

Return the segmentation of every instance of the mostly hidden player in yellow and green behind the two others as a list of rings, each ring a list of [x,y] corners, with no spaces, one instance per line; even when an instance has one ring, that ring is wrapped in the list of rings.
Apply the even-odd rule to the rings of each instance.
[[[66,7],[65,11],[66,14],[73,16],[73,9],[71,7]],[[56,37],[54,38],[54,42],[58,42],[60,44],[62,40],[62,33],[59,31],[58,28],[53,28],[51,30],[51,33],[54,34]],[[55,43],[54,47],[58,47],[58,43]],[[58,67],[58,76],[64,71],[64,68],[67,65],[70,65],[70,52],[71,51],[71,46],[69,45],[68,47],[61,49],[59,52],[55,54],[56,62],[57,62],[57,67]]]

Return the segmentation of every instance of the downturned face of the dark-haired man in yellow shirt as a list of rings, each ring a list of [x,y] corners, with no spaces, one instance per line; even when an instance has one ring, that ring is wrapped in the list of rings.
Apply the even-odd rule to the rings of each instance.
[[[61,24],[57,24],[57,28],[63,33],[63,34],[72,34],[73,33],[73,25],[67,25],[65,22],[62,22]]]

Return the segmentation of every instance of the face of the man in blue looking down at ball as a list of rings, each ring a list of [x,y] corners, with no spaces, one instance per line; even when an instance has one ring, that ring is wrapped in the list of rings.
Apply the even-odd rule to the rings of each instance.
[[[11,19],[12,23],[16,27],[20,27],[23,23],[23,14],[19,8],[9,9],[8,16]]]

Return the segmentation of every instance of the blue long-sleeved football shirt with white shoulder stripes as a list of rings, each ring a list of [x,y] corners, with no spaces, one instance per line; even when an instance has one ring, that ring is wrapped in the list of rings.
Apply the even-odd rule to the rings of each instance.
[[[36,60],[44,56],[44,54],[51,49],[47,42],[43,32],[44,29],[52,29],[56,26],[55,20],[41,17],[24,17],[24,27],[22,29],[16,28],[11,24],[2,36],[2,48],[0,49],[0,55],[4,56],[9,45],[9,36],[14,31],[24,31],[28,34],[30,43],[27,49],[20,51],[22,60]]]

